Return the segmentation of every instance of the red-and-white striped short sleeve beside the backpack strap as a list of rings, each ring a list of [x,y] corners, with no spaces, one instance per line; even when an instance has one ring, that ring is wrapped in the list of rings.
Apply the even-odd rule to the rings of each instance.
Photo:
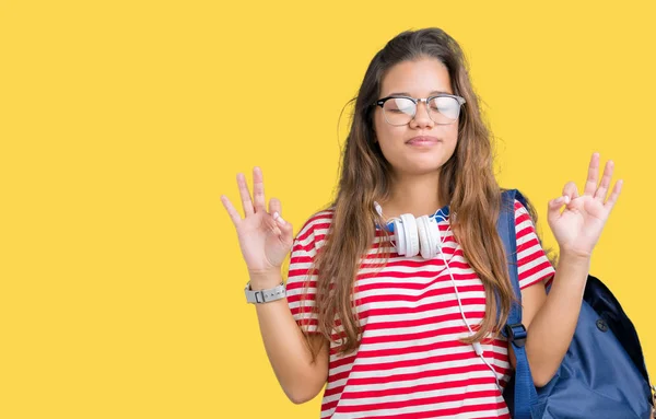
[[[547,286],[555,270],[536,233],[536,226],[526,209],[515,200],[515,233],[517,236],[517,272],[519,289],[544,281]]]

